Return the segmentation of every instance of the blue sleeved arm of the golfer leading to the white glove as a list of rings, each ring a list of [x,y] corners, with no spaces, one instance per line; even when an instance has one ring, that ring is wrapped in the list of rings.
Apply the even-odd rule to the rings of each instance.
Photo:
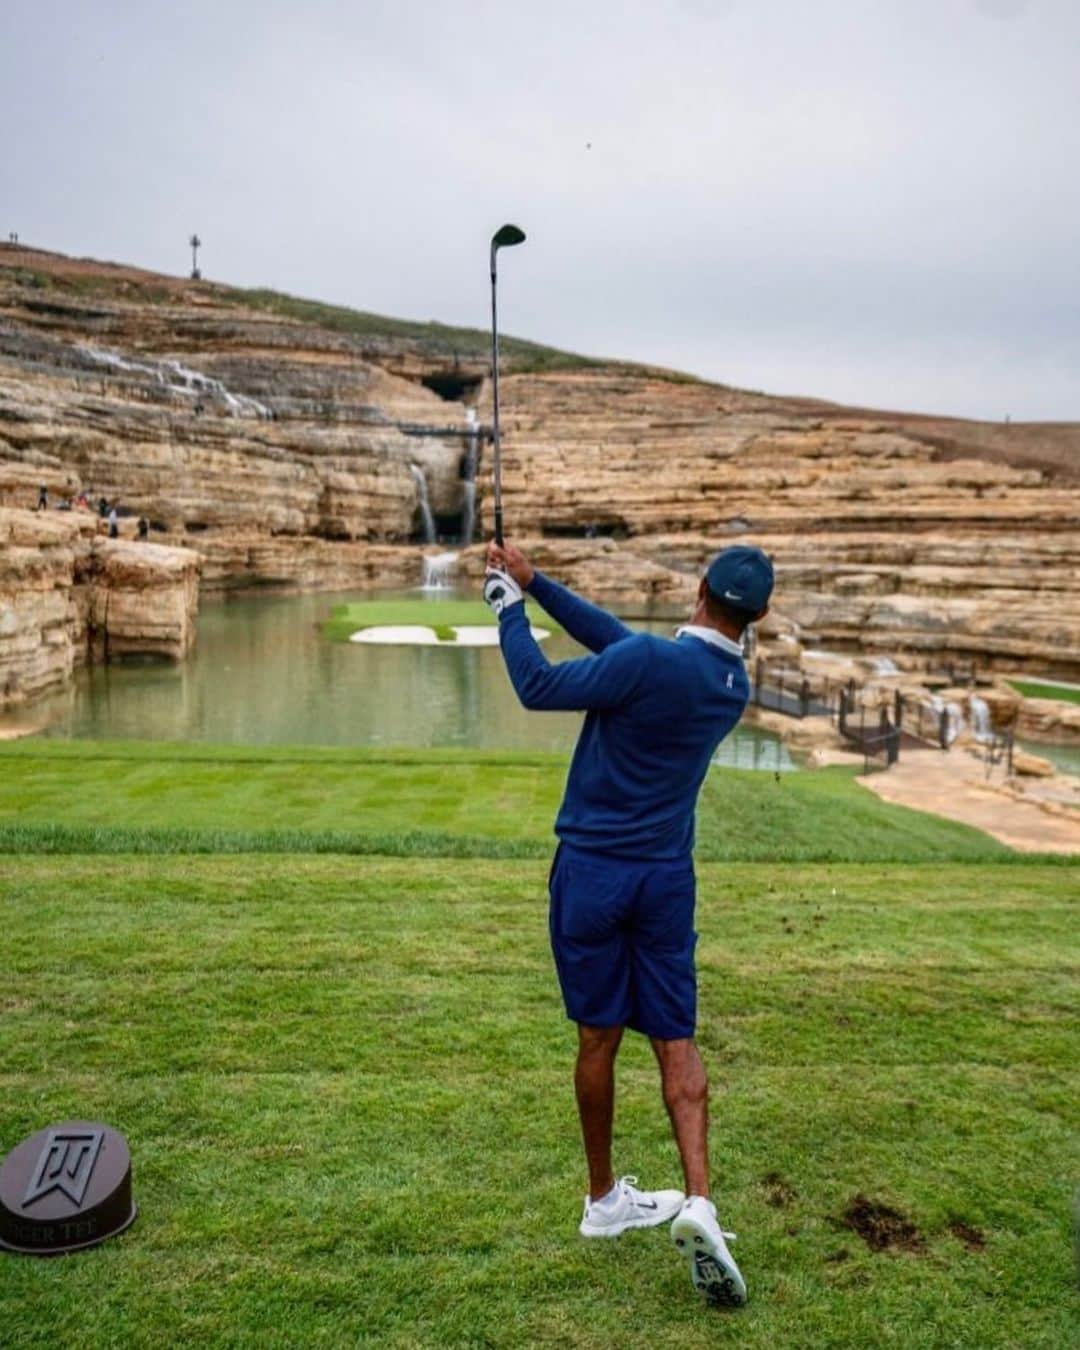
[[[500,616],[502,659],[517,697],[529,709],[587,711],[617,707],[645,678],[641,643],[612,643],[598,656],[552,666],[529,630],[525,606],[508,605]]]

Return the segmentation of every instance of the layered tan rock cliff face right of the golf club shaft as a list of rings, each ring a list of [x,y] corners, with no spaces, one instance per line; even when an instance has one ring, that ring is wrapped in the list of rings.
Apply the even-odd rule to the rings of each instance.
[[[1040,460],[1027,428],[1010,463],[971,424],[949,441],[929,420],[608,371],[509,378],[506,424],[508,517],[543,535],[587,525],[694,571],[752,541],[814,640],[1080,668],[1080,460]]]

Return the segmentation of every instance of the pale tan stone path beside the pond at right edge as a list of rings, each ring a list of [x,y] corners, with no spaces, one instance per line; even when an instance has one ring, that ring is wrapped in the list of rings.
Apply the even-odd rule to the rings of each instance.
[[[987,782],[983,761],[965,751],[907,751],[859,782],[886,802],[973,825],[1022,853],[1080,853],[1080,811],[1004,787],[1000,765]]]

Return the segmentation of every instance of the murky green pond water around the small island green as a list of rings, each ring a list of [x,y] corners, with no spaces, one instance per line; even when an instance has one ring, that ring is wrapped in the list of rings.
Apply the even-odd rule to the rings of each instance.
[[[90,667],[63,694],[23,713],[22,721],[45,721],[50,736],[90,740],[572,747],[580,717],[526,713],[498,648],[328,641],[320,625],[332,606],[356,598],[350,593],[204,601],[198,641],[186,662]],[[636,626],[670,633],[672,625]],[[548,639],[544,651],[551,660],[582,655],[564,634]],[[779,740],[749,728],[724,742],[718,760],[744,768],[795,768]]]

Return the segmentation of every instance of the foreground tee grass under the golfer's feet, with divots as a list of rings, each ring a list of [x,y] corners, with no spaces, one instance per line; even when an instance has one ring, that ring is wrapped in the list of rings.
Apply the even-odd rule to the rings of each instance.
[[[713,1153],[751,1287],[736,1315],[698,1305],[664,1231],[576,1235],[545,876],[5,857],[0,1150],[49,1120],[108,1119],[140,1215],[80,1257],[0,1260],[0,1342],[1071,1342],[1068,871],[699,867]],[[616,1148],[621,1170],[675,1183],[636,1037]],[[922,1253],[841,1227],[860,1192],[907,1215]],[[972,1230],[984,1247],[957,1237]]]

